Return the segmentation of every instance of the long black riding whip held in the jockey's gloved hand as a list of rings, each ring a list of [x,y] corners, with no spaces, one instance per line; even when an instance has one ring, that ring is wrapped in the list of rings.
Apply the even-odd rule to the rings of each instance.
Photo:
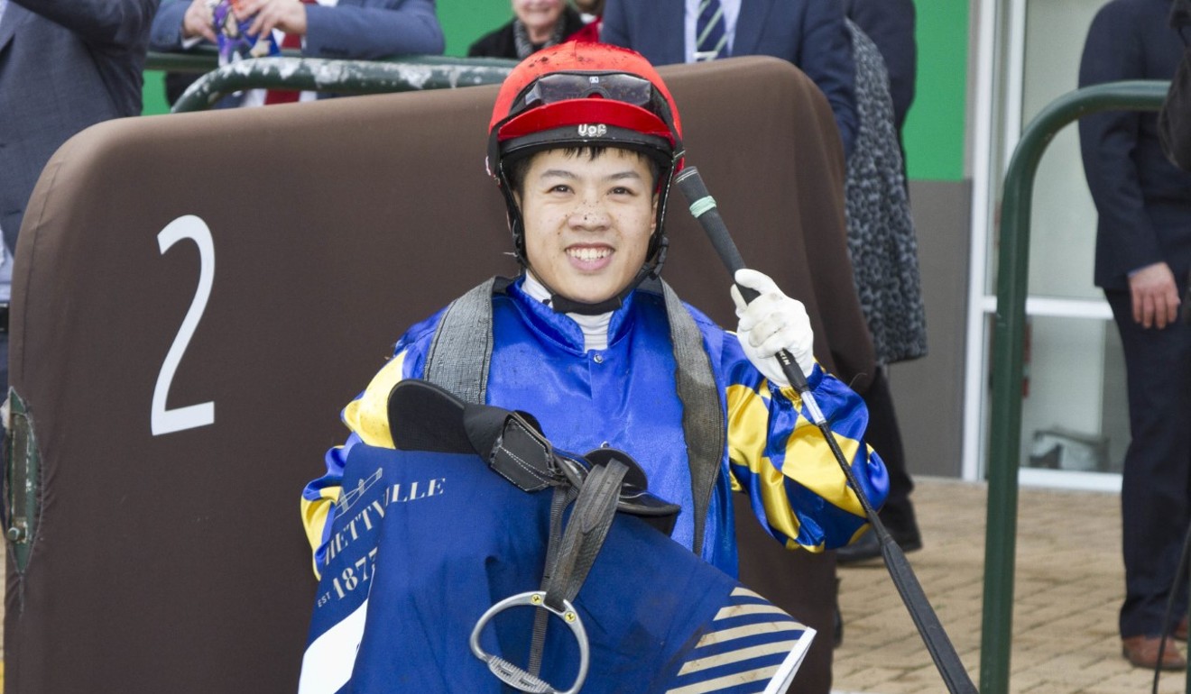
[[[675,176],[674,182],[682,190],[682,195],[686,196],[686,201],[691,206],[691,214],[703,226],[703,231],[706,232],[721,261],[723,261],[724,265],[735,276],[736,270],[746,267],[744,260],[736,249],[736,243],[732,242],[731,235],[728,233],[728,226],[719,215],[716,200],[707,193],[707,187],[699,176],[699,170],[694,167],[686,167]],[[736,287],[746,301],[752,301],[757,296],[757,293],[753,289],[741,287],[740,285]],[[902,551],[902,548],[893,540],[893,537],[885,530],[885,525],[878,518],[872,502],[860,487],[855,475],[853,475],[848,458],[840,450],[840,444],[835,440],[830,424],[823,417],[818,404],[815,402],[815,396],[811,395],[802,368],[794,363],[793,357],[787,350],[781,350],[777,356],[782,373],[790,380],[791,386],[802,395],[803,404],[806,406],[811,420],[823,433],[823,438],[827,439],[828,448],[835,455],[835,459],[843,470],[848,484],[856,493],[856,499],[860,500],[860,506],[863,508],[865,515],[868,517],[868,521],[873,526],[873,533],[875,533],[877,540],[880,543],[881,557],[885,559],[885,567],[888,569],[890,577],[893,580],[893,584],[902,596],[902,602],[905,604],[906,609],[910,612],[910,618],[918,629],[918,633],[922,636],[922,640],[927,645],[931,659],[935,661],[935,668],[939,669],[939,674],[947,684],[947,690],[952,694],[977,694],[975,684],[972,683],[967,670],[964,669],[964,662],[960,661],[959,654],[955,652],[955,646],[947,637],[942,623],[939,621],[939,615],[930,606],[930,601],[927,599],[918,577],[910,567],[910,561],[905,558],[905,552]]]

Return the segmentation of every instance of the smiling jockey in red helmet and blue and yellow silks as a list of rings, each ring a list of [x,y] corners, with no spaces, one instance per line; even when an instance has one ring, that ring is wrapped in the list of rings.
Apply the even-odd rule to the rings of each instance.
[[[678,107],[640,55],[567,43],[513,69],[497,98],[487,163],[523,271],[410,329],[344,408],[351,434],[303,494],[316,567],[326,561],[348,455],[361,443],[393,446],[387,402],[406,379],[529,412],[562,449],[626,451],[650,490],[681,506],[672,538],[729,575],[737,570],[732,489],[749,494],[753,513],[787,548],[822,551],[861,532],[860,504],[774,357],[781,349],[794,356],[879,506],[887,479],[862,440],[865,407],[815,361],[803,305],[742,270],[736,281],[760,298],[744,306],[734,293],[732,333],[659,279],[666,199],[682,155]],[[447,327],[478,302],[482,329]],[[443,533],[466,540],[466,523]]]

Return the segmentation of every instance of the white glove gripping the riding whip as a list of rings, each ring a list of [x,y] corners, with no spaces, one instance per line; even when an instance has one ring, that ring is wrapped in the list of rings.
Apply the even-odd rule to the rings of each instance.
[[[781,293],[778,285],[768,275],[756,270],[736,270],[736,283],[755,289],[760,296],[752,304],[744,304],[736,285],[732,285],[732,301],[736,302],[736,337],[744,348],[744,355],[753,362],[769,382],[785,388],[790,386],[777,355],[788,350],[803,370],[810,377],[815,368],[815,331],[806,307],[802,301]]]

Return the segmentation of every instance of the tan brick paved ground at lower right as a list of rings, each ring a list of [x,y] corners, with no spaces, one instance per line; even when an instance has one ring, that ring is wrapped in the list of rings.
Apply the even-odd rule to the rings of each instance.
[[[979,684],[984,484],[916,479],[924,548],[909,555],[972,679]],[[1018,499],[1010,692],[1148,693],[1153,673],[1121,657],[1121,513],[1116,494],[1022,489]],[[837,693],[946,693],[885,565],[842,567],[843,645]],[[1161,693],[1186,690],[1164,674]]]

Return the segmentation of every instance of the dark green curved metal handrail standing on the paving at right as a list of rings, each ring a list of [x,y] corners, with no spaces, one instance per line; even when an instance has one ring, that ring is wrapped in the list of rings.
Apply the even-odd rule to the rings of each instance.
[[[1100,111],[1158,111],[1168,88],[1170,82],[1128,81],[1065,94],[1052,101],[1025,127],[1009,162],[1000,211],[997,321],[992,346],[992,423],[980,634],[981,694],[1009,692],[1017,473],[1022,438],[1021,383],[1034,176],[1042,152],[1068,123]]]

